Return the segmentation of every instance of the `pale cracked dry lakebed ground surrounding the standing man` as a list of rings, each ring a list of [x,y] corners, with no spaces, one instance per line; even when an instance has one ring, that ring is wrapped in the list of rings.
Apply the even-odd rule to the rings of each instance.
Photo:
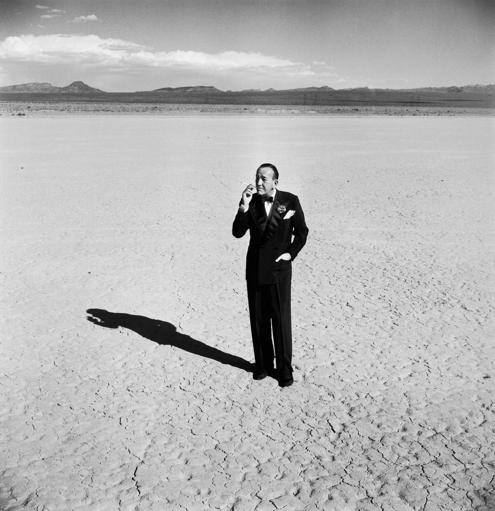
[[[494,124],[0,119],[0,507],[493,511]],[[286,389],[230,235],[265,160],[310,228]]]

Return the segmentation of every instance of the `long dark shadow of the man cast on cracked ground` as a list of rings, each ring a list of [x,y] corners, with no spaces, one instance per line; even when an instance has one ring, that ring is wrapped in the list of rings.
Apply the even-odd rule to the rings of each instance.
[[[248,373],[252,373],[253,371],[252,364],[247,360],[217,350],[204,342],[181,334],[177,332],[177,329],[172,323],[167,321],[150,319],[145,316],[136,316],[133,314],[108,312],[103,309],[88,309],[86,312],[90,314],[87,320],[91,321],[91,323],[98,324],[100,327],[113,329],[119,327],[127,328],[157,344],[175,346],[186,352],[194,353],[194,355],[210,358],[221,364],[228,364],[232,367],[243,369]]]

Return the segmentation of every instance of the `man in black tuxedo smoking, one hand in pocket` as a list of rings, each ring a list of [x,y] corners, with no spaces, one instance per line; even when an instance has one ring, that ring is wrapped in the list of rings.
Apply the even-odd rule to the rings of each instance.
[[[272,164],[256,170],[255,184],[242,194],[232,234],[242,238],[249,229],[246,281],[255,368],[253,378],[273,373],[280,387],[292,377],[292,261],[306,243],[308,227],[297,196],[276,188]],[[273,331],[273,343],[272,343]]]

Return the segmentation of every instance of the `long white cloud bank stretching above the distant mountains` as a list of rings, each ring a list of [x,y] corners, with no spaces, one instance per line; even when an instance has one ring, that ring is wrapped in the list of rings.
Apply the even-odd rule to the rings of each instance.
[[[21,35],[0,42],[0,58],[32,63],[72,63],[108,66],[112,69],[197,69],[222,71],[232,69],[292,69],[302,64],[262,55],[226,51],[217,54],[176,50],[152,51],[122,39],[102,39],[97,35]]]

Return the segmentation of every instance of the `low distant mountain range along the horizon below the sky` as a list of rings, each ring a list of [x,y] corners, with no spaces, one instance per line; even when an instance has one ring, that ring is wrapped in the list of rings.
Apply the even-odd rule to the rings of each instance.
[[[462,87],[419,87],[419,88],[413,88],[413,89],[369,89],[368,87],[357,87],[352,89],[333,89],[332,87],[328,87],[326,85],[323,85],[322,87],[303,87],[303,88],[295,88],[295,89],[268,89],[268,90],[260,90],[260,89],[245,89],[240,91],[223,91],[220,89],[217,89],[213,86],[203,86],[203,85],[195,85],[191,87],[162,87],[159,89],[153,89],[153,90],[147,90],[147,91],[136,91],[135,93],[129,92],[127,94],[188,94],[191,92],[194,93],[250,93],[250,94],[256,94],[263,92],[264,94],[270,94],[273,92],[289,92],[289,91],[300,91],[300,92],[325,92],[325,91],[332,91],[332,90],[338,90],[338,91],[345,91],[345,90],[390,90],[390,91],[403,91],[403,92],[480,92],[480,93],[494,93],[495,92],[495,85],[463,85]],[[73,82],[70,85],[67,85],[65,87],[56,87],[55,85],[52,85],[51,83],[39,83],[39,82],[33,82],[33,83],[23,83],[21,85],[8,85],[6,87],[0,87],[0,92],[30,92],[32,93],[44,93],[44,94],[126,94],[124,92],[121,93],[109,93],[105,92],[104,90],[100,90],[94,87],[90,87],[89,85],[86,85],[83,82],[77,81]]]

